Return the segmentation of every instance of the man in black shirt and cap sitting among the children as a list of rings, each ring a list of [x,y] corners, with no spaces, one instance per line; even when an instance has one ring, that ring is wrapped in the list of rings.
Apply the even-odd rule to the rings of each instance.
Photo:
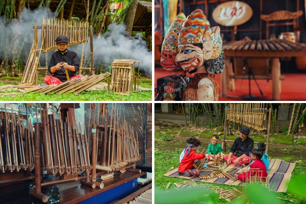
[[[242,126],[239,131],[240,137],[235,139],[230,149],[230,154],[225,155],[224,159],[228,164],[245,166],[250,163],[249,154],[253,149],[254,140],[248,137],[250,134],[250,129],[248,127]],[[236,155],[234,155],[235,152]]]

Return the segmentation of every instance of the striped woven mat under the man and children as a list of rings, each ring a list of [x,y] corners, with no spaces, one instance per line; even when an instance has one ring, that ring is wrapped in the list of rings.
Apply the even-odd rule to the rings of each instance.
[[[236,167],[237,169],[231,172],[228,172],[234,176],[237,177],[237,174],[239,174],[241,169],[247,169],[249,165],[246,167],[242,166],[235,166],[231,164],[230,166],[226,167],[222,172],[225,172],[233,167]],[[269,165],[269,173],[267,176],[267,181],[269,181],[269,186],[271,191],[276,192],[285,192],[287,190],[287,184],[291,179],[291,173],[295,167],[295,163],[289,163],[284,162],[279,159],[272,159],[270,161]],[[214,184],[225,184],[230,186],[237,186],[241,184],[241,181],[233,181],[228,178],[213,178],[213,179],[200,179],[199,177],[187,177],[187,176],[181,176],[179,175],[179,171],[177,171],[179,168],[175,168],[167,173],[164,174],[164,176],[169,177],[179,177],[182,179],[192,180],[192,181],[198,181],[198,182],[207,182],[207,183],[214,183]],[[211,174],[213,175],[213,171],[211,170],[205,170],[206,168],[203,168],[199,175],[207,175]]]

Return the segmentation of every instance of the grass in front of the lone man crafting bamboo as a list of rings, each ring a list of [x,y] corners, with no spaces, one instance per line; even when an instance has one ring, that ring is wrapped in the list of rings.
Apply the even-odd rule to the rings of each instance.
[[[5,81],[0,82],[0,86],[8,84],[19,84],[21,78],[2,78],[2,80],[16,81],[15,83],[6,83]],[[107,83],[107,79],[103,82]],[[39,78],[38,83],[44,83],[43,78]],[[139,86],[142,88],[152,88],[152,79],[140,79]],[[14,92],[14,89],[8,92]],[[82,91],[79,94],[65,93],[65,94],[40,94],[40,93],[22,93],[18,96],[3,96],[0,97],[2,101],[147,101],[152,100],[152,91],[134,91],[131,94],[119,94],[109,92],[106,90],[101,91]]]

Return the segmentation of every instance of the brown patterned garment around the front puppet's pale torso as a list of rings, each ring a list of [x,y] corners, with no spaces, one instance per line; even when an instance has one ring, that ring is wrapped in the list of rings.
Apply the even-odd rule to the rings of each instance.
[[[202,79],[209,79],[213,85],[214,85],[214,100],[217,101],[219,99],[219,85],[216,81],[216,76],[210,73],[196,73],[194,75],[194,78],[191,80],[189,84],[187,84],[184,94],[183,94],[183,100],[197,100],[197,89],[198,89],[198,83]]]

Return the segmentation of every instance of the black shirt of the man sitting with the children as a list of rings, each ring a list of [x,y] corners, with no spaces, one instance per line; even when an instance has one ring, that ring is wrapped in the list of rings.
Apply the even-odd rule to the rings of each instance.
[[[246,156],[249,156],[250,152],[252,151],[254,147],[254,140],[247,137],[243,142],[242,139],[236,138],[234,141],[234,144],[232,145],[230,152],[235,154],[236,157],[240,157],[241,155],[245,154]]]

